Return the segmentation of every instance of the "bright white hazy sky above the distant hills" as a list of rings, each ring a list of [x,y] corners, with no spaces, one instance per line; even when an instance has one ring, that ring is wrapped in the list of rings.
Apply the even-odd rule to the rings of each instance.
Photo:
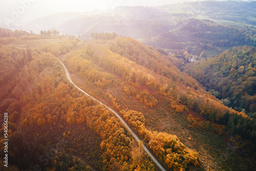
[[[0,0],[0,19],[31,20],[56,12],[87,12],[116,6],[161,6],[193,0]]]

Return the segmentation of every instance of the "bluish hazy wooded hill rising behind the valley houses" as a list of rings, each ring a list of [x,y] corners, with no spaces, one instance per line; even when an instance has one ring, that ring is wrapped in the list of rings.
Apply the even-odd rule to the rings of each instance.
[[[179,28],[154,37],[148,44],[166,49],[184,50],[197,56],[208,49],[216,50],[216,48],[240,45],[256,46],[256,41],[250,39],[250,35],[245,34],[243,30],[220,25],[208,19],[182,20],[178,25]],[[252,35],[254,34],[255,31]]]

